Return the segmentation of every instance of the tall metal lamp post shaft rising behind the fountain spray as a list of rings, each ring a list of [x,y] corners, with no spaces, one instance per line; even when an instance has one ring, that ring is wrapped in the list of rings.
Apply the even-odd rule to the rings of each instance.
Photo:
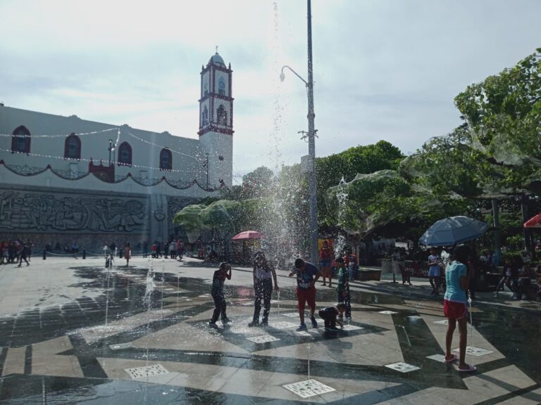
[[[312,66],[312,7],[311,0],[307,0],[308,8],[308,155],[310,169],[310,259],[318,262],[318,200],[316,183],[316,131],[314,129],[313,112],[313,66]]]

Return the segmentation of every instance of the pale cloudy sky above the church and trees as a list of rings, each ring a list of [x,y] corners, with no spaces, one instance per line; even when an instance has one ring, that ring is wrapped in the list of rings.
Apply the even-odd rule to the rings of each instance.
[[[539,0],[313,0],[316,155],[404,154],[461,124],[466,86],[541,46]],[[233,184],[308,144],[304,0],[0,0],[0,102],[197,139],[201,65],[231,64]]]

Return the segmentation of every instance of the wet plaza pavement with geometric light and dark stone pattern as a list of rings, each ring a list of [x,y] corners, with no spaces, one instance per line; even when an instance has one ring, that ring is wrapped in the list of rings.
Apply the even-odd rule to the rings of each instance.
[[[466,374],[438,357],[442,302],[405,288],[353,283],[349,326],[297,333],[294,280],[280,271],[269,326],[248,328],[251,271],[235,268],[232,323],[212,328],[213,267],[154,259],[149,277],[147,259],[102,262],[0,267],[0,404],[541,403],[532,309],[475,305],[466,361],[478,371]],[[318,307],[334,300],[318,287]]]

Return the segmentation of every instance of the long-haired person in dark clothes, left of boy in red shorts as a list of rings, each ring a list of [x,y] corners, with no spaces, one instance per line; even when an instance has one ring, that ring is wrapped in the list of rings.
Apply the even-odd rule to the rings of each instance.
[[[268,325],[270,297],[273,295],[273,280],[274,290],[280,291],[280,288],[278,288],[278,279],[276,278],[274,266],[267,262],[265,253],[256,252],[254,255],[254,319],[248,323],[248,326],[259,326],[261,300],[263,300],[263,319],[261,320],[261,325]]]

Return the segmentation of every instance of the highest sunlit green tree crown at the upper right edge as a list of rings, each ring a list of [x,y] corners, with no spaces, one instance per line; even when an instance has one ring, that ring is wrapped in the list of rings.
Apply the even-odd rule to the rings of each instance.
[[[471,84],[455,105],[468,120],[471,146],[498,167],[497,187],[521,192],[541,167],[541,49],[513,68]],[[538,177],[537,177],[538,179]]]

